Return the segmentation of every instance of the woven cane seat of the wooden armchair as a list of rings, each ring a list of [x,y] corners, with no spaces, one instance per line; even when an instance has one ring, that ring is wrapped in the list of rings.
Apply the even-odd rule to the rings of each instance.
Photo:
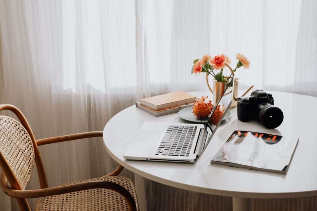
[[[136,194],[133,187],[133,183],[130,179],[120,176],[112,177],[99,177],[94,179],[88,179],[78,181],[69,184],[77,184],[89,181],[108,181],[120,184],[122,187],[127,189],[133,196],[138,209],[138,202],[136,200]],[[64,186],[61,185],[61,186]],[[68,194],[53,195],[42,197],[37,203],[36,210],[38,211],[71,211],[71,210],[129,210],[128,204],[125,199],[119,193],[110,189],[89,189]]]

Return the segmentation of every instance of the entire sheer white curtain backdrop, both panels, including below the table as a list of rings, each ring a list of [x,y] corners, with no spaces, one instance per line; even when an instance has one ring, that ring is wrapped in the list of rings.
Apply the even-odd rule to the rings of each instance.
[[[191,61],[236,53],[241,88],[317,96],[315,1],[0,0],[0,103],[22,110],[37,139],[102,130],[136,100],[207,90]],[[235,65],[235,64],[234,64]],[[50,186],[115,168],[101,139],[40,147]],[[135,176],[144,210],[230,210],[228,197],[171,188]],[[39,188],[36,172],[27,189]],[[0,196],[0,208],[16,201]],[[11,202],[10,202],[11,201]],[[29,200],[35,207],[36,200]],[[3,206],[3,207],[1,207]],[[252,208],[316,208],[316,197],[253,200]]]

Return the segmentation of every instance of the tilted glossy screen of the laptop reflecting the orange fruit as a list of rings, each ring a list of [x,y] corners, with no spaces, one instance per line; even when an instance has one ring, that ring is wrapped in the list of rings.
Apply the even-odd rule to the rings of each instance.
[[[220,101],[217,105],[214,105],[213,112],[207,122],[207,131],[209,132],[210,136],[205,139],[203,150],[201,151],[201,153],[199,153],[199,155],[204,152],[217,127],[221,124],[223,116],[231,105],[233,99],[234,80],[235,77],[231,78],[229,86],[224,90],[223,96],[221,97]]]

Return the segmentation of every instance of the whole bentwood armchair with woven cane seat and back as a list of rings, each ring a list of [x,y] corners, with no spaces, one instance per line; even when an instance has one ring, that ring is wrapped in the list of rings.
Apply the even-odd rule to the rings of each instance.
[[[117,176],[121,165],[106,176],[49,188],[38,146],[62,141],[102,137],[101,131],[77,133],[35,140],[22,112],[10,104],[1,110],[12,111],[21,123],[0,116],[0,178],[1,189],[15,197],[21,210],[30,210],[26,198],[38,198],[36,210],[138,210],[133,183]],[[34,160],[41,189],[24,190],[33,171]],[[10,186],[9,184],[10,183]]]

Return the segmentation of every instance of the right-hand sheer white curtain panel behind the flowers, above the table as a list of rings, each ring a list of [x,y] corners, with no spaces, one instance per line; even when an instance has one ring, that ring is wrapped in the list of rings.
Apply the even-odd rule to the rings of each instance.
[[[317,96],[315,1],[143,1],[148,95],[205,89],[189,74],[192,60],[236,53],[241,87]]]

